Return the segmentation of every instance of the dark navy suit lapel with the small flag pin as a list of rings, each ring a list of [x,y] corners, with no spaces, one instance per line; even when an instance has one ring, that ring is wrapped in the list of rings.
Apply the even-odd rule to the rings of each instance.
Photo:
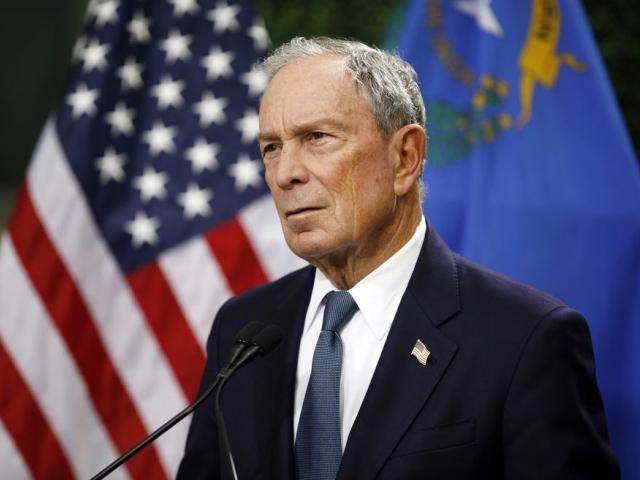
[[[429,228],[347,440],[339,479],[374,478],[436,388],[458,347],[437,328],[459,311],[455,261]],[[410,355],[420,339],[427,366]]]

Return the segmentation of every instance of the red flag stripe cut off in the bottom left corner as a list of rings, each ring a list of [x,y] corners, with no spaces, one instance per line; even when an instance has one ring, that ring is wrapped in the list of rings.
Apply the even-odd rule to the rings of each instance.
[[[0,340],[0,418],[35,478],[74,478],[29,386]]]

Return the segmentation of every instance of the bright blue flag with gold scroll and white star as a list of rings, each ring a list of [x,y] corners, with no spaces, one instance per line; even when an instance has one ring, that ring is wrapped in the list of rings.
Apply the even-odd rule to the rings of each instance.
[[[424,208],[463,255],[585,314],[609,433],[640,478],[640,175],[577,0],[413,0]]]

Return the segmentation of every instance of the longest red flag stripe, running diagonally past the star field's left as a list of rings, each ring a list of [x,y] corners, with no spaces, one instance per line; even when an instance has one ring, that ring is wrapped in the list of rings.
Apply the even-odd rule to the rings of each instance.
[[[120,452],[146,434],[142,420],[114,368],[82,295],[44,230],[28,185],[18,195],[9,233],[16,252],[49,316],[73,356],[111,439]],[[93,266],[96,269],[100,265]],[[38,441],[34,437],[34,441]],[[155,446],[127,463],[134,478],[167,478]]]

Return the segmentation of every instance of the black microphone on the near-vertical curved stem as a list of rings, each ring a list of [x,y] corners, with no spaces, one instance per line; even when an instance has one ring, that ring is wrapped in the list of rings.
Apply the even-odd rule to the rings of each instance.
[[[239,335],[238,335],[239,336]],[[228,373],[224,372],[225,369],[220,371],[220,375],[223,375],[220,385],[217,387],[216,396],[214,401],[214,410],[216,423],[218,425],[218,442],[220,443],[220,476],[223,480],[238,480],[238,474],[236,472],[236,465],[233,460],[233,454],[231,453],[231,445],[229,443],[229,437],[227,435],[227,427],[224,423],[224,417],[222,415],[222,409],[220,408],[220,397],[222,395],[222,389],[226,385],[229,377],[238,368],[249,363],[258,354],[266,355],[276,348],[282,341],[282,329],[277,325],[267,325],[262,328],[258,333],[253,336],[250,346],[241,350],[237,355],[233,355],[234,361],[228,364]],[[237,341],[238,337],[236,337]]]

